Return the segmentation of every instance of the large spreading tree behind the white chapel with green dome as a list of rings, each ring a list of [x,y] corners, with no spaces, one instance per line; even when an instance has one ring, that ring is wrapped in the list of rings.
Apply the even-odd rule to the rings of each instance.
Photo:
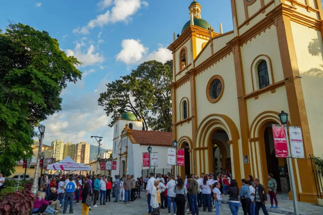
[[[161,63],[146,61],[136,70],[119,80],[108,83],[107,91],[100,94],[99,105],[105,107],[107,116],[112,115],[112,122],[120,114],[132,112],[137,119],[142,118],[143,129],[158,131],[172,130],[172,61]]]

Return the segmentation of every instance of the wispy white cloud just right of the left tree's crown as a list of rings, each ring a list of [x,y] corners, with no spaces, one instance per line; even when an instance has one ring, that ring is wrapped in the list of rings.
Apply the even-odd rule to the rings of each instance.
[[[96,63],[102,63],[104,61],[103,56],[99,53],[95,53],[94,45],[91,44],[86,52],[81,50],[81,46],[84,46],[83,42],[76,43],[75,49],[67,49],[65,52],[68,56],[74,56],[78,59],[78,61],[82,62],[82,66],[89,66]]]

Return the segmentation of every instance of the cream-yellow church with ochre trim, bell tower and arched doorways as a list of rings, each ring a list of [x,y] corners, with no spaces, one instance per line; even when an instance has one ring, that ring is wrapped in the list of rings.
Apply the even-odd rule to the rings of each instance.
[[[215,33],[189,6],[173,54],[172,134],[185,149],[178,173],[230,171],[290,190],[287,161],[276,158],[272,124],[289,114],[304,152],[322,156],[322,5],[320,0],[231,0],[233,31]],[[297,199],[317,203],[309,159],[293,159]]]

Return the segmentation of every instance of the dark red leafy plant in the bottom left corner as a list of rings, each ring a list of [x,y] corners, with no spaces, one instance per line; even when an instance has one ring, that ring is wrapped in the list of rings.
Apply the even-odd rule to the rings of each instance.
[[[0,198],[0,215],[28,215],[35,196],[27,190],[11,192]]]

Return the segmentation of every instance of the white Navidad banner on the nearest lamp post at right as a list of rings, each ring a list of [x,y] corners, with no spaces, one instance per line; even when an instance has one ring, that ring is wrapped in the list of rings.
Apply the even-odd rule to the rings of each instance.
[[[297,126],[289,126],[289,138],[292,158],[305,158],[302,128]]]

